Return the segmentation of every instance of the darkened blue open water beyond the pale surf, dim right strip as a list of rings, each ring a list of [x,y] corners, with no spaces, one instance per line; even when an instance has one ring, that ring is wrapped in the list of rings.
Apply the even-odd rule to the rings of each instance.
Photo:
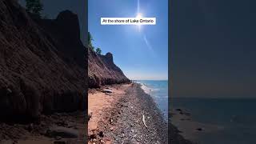
[[[172,105],[188,110],[195,122],[224,127],[202,134],[200,144],[256,143],[256,99],[173,98]]]

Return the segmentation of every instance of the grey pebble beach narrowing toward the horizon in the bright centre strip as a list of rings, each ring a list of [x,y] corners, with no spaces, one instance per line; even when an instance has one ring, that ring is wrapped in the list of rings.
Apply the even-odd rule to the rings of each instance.
[[[114,106],[104,110],[92,143],[167,143],[167,122],[153,98],[137,83]]]

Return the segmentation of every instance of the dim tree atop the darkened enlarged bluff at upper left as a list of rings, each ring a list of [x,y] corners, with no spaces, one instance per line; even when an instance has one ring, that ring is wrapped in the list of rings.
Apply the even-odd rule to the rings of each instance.
[[[26,11],[41,18],[41,12],[43,10],[40,0],[26,0]]]

